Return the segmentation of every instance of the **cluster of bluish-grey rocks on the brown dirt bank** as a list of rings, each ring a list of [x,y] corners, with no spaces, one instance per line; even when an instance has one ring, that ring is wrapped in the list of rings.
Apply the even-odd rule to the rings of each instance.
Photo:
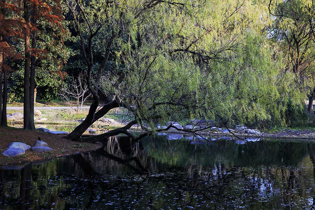
[[[31,149],[34,152],[50,152],[52,149],[48,147],[48,144],[43,141],[35,141],[34,145],[24,144],[22,142],[12,142],[8,145],[8,149],[2,154],[7,157],[16,157],[25,154],[25,150]]]

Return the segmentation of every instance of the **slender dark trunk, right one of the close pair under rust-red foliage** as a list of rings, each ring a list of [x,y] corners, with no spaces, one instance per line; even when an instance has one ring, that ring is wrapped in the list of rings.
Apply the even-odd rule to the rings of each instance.
[[[36,33],[32,36],[32,48],[36,48]],[[36,57],[31,56],[31,69],[30,69],[30,129],[35,130],[34,125],[34,92],[35,92],[35,69]]]

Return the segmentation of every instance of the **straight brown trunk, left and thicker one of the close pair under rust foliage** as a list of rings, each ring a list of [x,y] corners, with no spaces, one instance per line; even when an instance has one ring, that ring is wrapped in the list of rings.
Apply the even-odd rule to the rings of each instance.
[[[24,19],[29,22],[29,10],[28,1],[24,0]],[[30,33],[25,33],[25,63],[24,63],[24,103],[23,103],[23,116],[24,116],[24,129],[31,129],[31,113],[30,113],[30,64],[31,64],[31,52],[30,52]]]

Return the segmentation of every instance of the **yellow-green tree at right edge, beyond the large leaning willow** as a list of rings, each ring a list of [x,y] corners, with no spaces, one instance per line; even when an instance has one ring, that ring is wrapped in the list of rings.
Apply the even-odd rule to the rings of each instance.
[[[270,37],[281,43],[286,55],[285,72],[295,74],[295,86],[309,99],[307,110],[311,113],[315,96],[314,2],[270,0],[269,11],[274,17]]]

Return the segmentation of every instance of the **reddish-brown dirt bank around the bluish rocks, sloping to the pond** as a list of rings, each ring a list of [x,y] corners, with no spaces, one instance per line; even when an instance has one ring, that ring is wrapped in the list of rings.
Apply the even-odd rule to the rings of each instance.
[[[24,155],[18,157],[6,157],[2,152],[11,142],[23,142],[32,146],[40,137],[52,148],[51,152],[37,153],[26,150]],[[71,155],[100,148],[99,144],[79,143],[63,138],[63,134],[49,134],[39,131],[23,130],[20,128],[0,127],[0,165],[46,160],[53,157]]]

